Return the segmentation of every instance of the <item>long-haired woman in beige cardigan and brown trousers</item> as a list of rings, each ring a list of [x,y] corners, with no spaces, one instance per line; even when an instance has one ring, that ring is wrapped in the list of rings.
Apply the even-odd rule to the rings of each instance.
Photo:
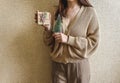
[[[89,83],[89,57],[98,47],[99,25],[88,0],[59,0],[54,18],[62,18],[62,32],[43,25],[44,42],[51,48],[52,83]],[[54,21],[52,21],[54,22]]]

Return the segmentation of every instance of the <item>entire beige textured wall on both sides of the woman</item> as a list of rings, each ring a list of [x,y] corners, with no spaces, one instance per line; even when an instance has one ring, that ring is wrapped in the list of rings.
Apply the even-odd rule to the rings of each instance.
[[[99,49],[90,58],[91,83],[120,83],[120,1],[91,2],[101,26]],[[55,4],[57,0],[0,0],[0,83],[50,83],[49,51],[34,12]]]

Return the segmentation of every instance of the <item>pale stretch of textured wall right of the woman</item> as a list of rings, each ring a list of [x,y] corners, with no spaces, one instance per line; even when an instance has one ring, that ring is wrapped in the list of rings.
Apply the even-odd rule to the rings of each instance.
[[[91,57],[91,83],[120,83],[120,0],[92,0],[101,29],[100,46]]]

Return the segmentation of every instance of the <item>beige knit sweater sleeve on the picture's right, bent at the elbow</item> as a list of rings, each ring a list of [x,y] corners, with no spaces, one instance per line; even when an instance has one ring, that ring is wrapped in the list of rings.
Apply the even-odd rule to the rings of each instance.
[[[88,58],[98,47],[99,43],[99,24],[97,15],[94,12],[87,29],[87,36],[68,36],[67,44],[74,50],[79,51],[80,57]]]

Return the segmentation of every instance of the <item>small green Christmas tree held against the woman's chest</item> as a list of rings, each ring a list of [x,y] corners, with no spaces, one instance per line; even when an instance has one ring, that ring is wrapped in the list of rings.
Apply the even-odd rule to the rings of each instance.
[[[62,32],[62,25],[61,25],[61,23],[62,23],[62,20],[61,20],[60,14],[59,14],[58,17],[57,17],[55,26],[53,27],[53,32]]]

